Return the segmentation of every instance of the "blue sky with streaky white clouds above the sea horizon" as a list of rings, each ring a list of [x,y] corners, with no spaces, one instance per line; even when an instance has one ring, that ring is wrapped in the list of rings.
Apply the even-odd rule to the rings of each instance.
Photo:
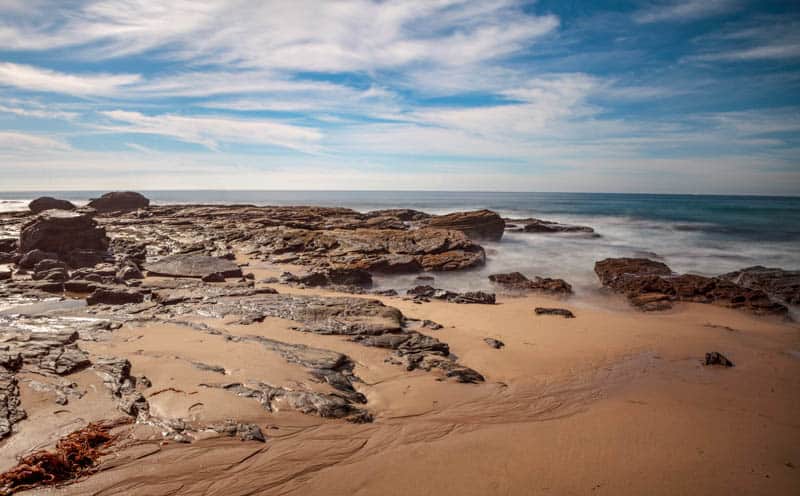
[[[800,195],[800,2],[0,0],[0,190]]]

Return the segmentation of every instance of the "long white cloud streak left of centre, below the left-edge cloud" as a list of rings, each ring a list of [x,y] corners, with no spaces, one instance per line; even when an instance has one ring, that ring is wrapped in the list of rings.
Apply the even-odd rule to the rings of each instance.
[[[220,143],[275,145],[303,152],[318,151],[322,134],[316,129],[255,119],[181,116],[149,116],[139,112],[112,110],[101,114],[122,125],[99,126],[115,133],[168,136],[217,150]]]

